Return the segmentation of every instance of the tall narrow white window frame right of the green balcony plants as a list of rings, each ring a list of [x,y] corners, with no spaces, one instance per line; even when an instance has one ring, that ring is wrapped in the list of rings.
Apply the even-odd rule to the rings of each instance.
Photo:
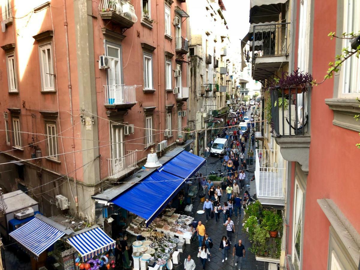
[[[300,198],[301,196],[301,198]],[[292,232],[292,262],[294,265],[297,265],[297,269],[301,269],[301,256],[302,256],[302,246],[301,246],[301,238],[300,238],[300,258],[296,252],[296,237],[297,231],[300,230],[300,233],[303,233],[302,230],[302,216],[303,216],[303,203],[304,203],[304,190],[299,184],[297,178],[295,178],[295,186],[294,186],[294,209],[293,209],[293,232]],[[300,235],[302,237],[302,235]]]

